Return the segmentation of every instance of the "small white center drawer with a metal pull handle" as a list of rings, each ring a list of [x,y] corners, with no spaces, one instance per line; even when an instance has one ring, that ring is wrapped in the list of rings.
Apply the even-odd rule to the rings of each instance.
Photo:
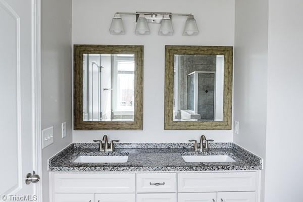
[[[176,173],[138,173],[137,192],[176,192]]]

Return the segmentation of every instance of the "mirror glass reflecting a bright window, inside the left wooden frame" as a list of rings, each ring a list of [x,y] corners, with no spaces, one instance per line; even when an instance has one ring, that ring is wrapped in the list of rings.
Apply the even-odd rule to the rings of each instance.
[[[83,54],[83,121],[134,121],[133,54]]]

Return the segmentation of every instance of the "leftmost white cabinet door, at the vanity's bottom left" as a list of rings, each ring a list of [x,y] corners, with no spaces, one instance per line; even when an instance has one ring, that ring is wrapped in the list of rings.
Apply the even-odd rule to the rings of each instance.
[[[93,193],[56,193],[55,202],[94,202]]]

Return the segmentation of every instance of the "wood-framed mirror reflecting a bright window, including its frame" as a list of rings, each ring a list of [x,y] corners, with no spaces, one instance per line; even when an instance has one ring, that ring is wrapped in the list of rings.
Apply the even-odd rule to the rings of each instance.
[[[74,45],[74,129],[143,129],[142,45]]]

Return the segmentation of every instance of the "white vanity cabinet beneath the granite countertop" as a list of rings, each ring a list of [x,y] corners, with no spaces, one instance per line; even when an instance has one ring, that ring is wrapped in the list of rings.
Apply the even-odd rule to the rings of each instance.
[[[259,202],[260,172],[50,172],[50,201]]]

